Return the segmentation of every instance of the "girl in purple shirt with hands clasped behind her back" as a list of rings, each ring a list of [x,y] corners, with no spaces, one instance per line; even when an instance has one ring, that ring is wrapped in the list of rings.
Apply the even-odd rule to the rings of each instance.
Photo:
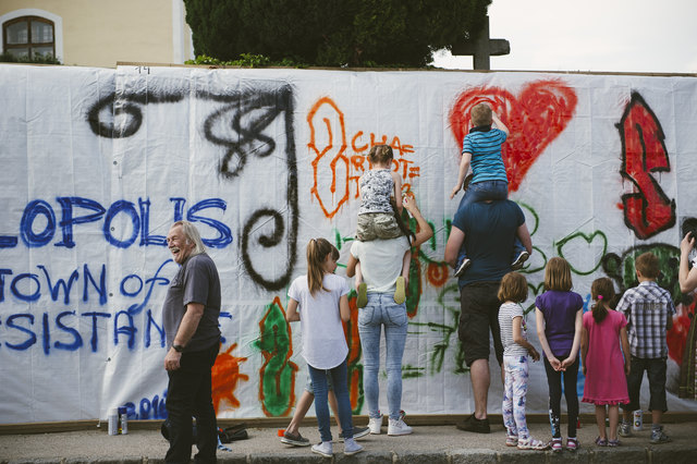
[[[572,292],[571,267],[564,258],[553,257],[545,268],[545,293],[535,298],[537,337],[545,352],[545,370],[549,386],[549,420],[552,426],[552,451],[562,451],[560,427],[562,375],[568,412],[566,449],[576,451],[578,420],[578,347],[583,329],[580,295]]]

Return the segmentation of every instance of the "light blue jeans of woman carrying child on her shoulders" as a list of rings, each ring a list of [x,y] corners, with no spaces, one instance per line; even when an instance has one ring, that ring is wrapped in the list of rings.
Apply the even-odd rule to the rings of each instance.
[[[363,349],[363,388],[368,415],[379,417],[380,335],[384,328],[388,373],[388,407],[391,419],[400,418],[402,408],[402,355],[406,343],[406,305],[394,303],[392,293],[368,293],[368,304],[358,312],[358,334]]]

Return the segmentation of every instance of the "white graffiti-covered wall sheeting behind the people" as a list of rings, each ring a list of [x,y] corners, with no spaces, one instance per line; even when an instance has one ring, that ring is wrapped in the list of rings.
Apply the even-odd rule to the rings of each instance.
[[[176,265],[164,236],[179,219],[197,224],[221,276],[219,417],[289,416],[307,369],[286,290],[310,237],[346,262],[378,143],[435,230],[411,264],[403,408],[472,412],[443,249],[479,101],[511,130],[510,197],[534,243],[526,309],[552,256],[571,262],[587,306],[595,278],[632,286],[636,254],[656,252],[678,308],[669,407],[697,411],[676,394],[695,350],[694,301],[677,286],[681,224],[697,217],[695,77],[0,65],[0,423],[105,418],[118,405],[166,417],[161,304]],[[365,414],[355,312],[345,331]],[[531,376],[528,407],[545,413],[542,366]],[[492,412],[500,395],[494,376]]]

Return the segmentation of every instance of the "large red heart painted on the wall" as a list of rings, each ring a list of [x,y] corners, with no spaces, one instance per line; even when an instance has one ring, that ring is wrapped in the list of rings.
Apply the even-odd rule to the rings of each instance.
[[[509,175],[509,191],[518,190],[535,160],[566,127],[574,115],[578,98],[573,88],[560,81],[528,84],[518,98],[499,87],[475,87],[463,93],[450,112],[455,139],[462,142],[469,131],[469,110],[488,102],[511,132],[502,155]]]

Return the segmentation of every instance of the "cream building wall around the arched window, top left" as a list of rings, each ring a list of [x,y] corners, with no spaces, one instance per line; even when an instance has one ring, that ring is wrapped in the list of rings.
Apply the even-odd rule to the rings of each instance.
[[[44,16],[41,12],[60,19],[61,27],[56,24],[56,53],[64,64],[113,68],[119,61],[183,63],[193,56],[182,0],[0,2],[0,22],[26,14]],[[45,17],[56,22],[50,15]]]

